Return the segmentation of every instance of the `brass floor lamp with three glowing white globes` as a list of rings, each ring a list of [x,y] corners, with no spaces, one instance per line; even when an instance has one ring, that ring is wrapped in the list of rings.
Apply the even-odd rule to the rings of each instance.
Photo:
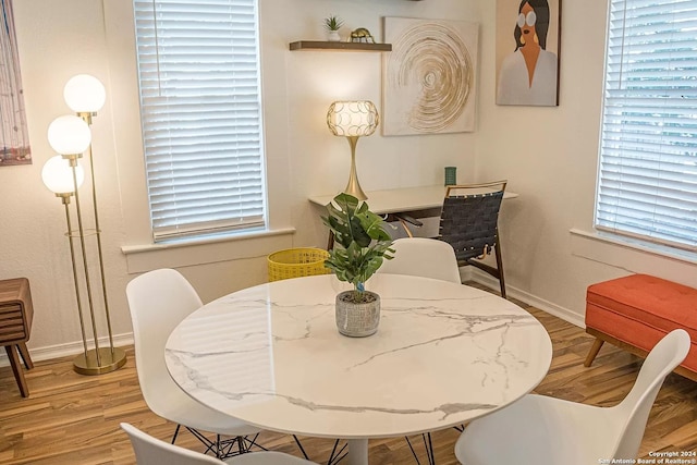
[[[111,317],[109,315],[109,301],[107,296],[107,283],[105,278],[103,258],[101,252],[101,230],[99,227],[99,216],[97,208],[97,194],[95,183],[95,169],[91,156],[91,132],[89,124],[91,118],[101,109],[105,103],[106,93],[101,83],[89,75],[78,75],[69,81],[64,89],[65,101],[77,115],[59,117],[49,125],[49,144],[60,157],[58,161],[51,158],[41,172],[44,183],[59,198],[65,208],[65,220],[73,267],[73,279],[75,283],[75,296],[77,301],[77,311],[80,314],[80,326],[83,339],[83,354],[73,360],[73,368],[82,375],[101,375],[121,368],[126,362],[126,354],[122,348],[114,347],[113,333],[111,330]],[[85,227],[82,205],[80,201],[81,178],[84,179],[84,170],[78,159],[87,154],[90,170],[90,187],[93,198],[94,228]],[[59,161],[63,161],[60,163]],[[66,168],[68,167],[68,168]],[[82,174],[81,174],[82,173]],[[72,185],[71,185],[72,180]],[[71,220],[71,197],[75,197],[74,217],[77,220],[77,229],[73,229]],[[98,293],[93,289],[93,274],[89,264],[94,262],[94,257],[89,256],[86,248],[87,240],[96,241],[97,261],[99,266],[99,282],[101,284],[101,301],[103,304],[105,318],[109,335],[109,346],[100,347],[99,333],[96,321],[96,299]],[[75,242],[80,244],[80,253],[76,253]],[[82,273],[80,272],[82,270]],[[81,285],[82,284],[82,285]],[[86,297],[86,299],[83,299]],[[96,298],[97,297],[97,298]],[[89,319],[85,318],[83,304],[87,304]],[[86,322],[91,327],[94,348],[87,346]]]

